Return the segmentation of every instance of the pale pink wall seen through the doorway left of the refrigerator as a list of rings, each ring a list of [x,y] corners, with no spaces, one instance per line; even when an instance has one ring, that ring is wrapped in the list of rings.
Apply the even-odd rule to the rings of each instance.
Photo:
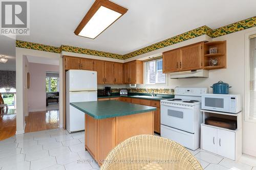
[[[46,71],[59,71],[58,65],[29,63],[30,88],[28,89],[29,111],[46,110]]]

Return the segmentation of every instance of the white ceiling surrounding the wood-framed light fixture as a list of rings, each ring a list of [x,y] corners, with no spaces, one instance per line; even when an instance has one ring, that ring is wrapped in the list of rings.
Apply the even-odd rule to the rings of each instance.
[[[126,54],[204,25],[216,29],[256,15],[255,0],[113,0],[128,9],[125,15],[94,40],[76,36],[94,1],[30,1],[30,36],[17,39]],[[0,54],[15,56],[15,40],[0,36]]]

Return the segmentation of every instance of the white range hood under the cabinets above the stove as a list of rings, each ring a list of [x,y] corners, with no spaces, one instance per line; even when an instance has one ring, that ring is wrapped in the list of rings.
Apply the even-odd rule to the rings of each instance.
[[[191,79],[191,78],[207,78],[207,77],[209,77],[209,71],[204,69],[170,73],[171,79]]]

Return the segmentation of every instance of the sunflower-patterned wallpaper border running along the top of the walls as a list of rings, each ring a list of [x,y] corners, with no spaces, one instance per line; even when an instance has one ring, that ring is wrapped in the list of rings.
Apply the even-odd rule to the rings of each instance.
[[[202,26],[197,29],[185,32],[183,34],[174,36],[172,38],[168,38],[166,40],[157,42],[155,44],[148,45],[146,47],[143,47],[139,50],[136,50],[134,52],[131,52],[125,55],[101,52],[101,51],[90,50],[87,48],[81,48],[81,47],[75,47],[75,46],[69,46],[69,45],[61,45],[60,47],[56,47],[56,46],[50,46],[50,45],[21,41],[21,40],[16,40],[16,47],[28,48],[32,50],[39,50],[39,51],[45,51],[45,52],[51,52],[51,53],[60,53],[61,51],[65,51],[65,52],[87,54],[87,55],[124,60],[124,59],[132,58],[141,54],[152,52],[154,50],[158,50],[159,48],[173,45],[173,44],[176,44],[188,39],[192,39],[201,35],[208,35],[209,37],[216,38],[223,35],[249,29],[255,26],[256,26],[256,16],[253,16],[251,18],[244,19],[242,21],[238,21],[235,23],[231,23],[230,25],[227,25],[215,30],[212,30],[207,26]]]

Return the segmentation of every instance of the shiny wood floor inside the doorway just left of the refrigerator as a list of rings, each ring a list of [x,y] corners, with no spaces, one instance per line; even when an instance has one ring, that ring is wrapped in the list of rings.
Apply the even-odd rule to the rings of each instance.
[[[25,133],[59,128],[59,111],[29,112],[25,122]]]

